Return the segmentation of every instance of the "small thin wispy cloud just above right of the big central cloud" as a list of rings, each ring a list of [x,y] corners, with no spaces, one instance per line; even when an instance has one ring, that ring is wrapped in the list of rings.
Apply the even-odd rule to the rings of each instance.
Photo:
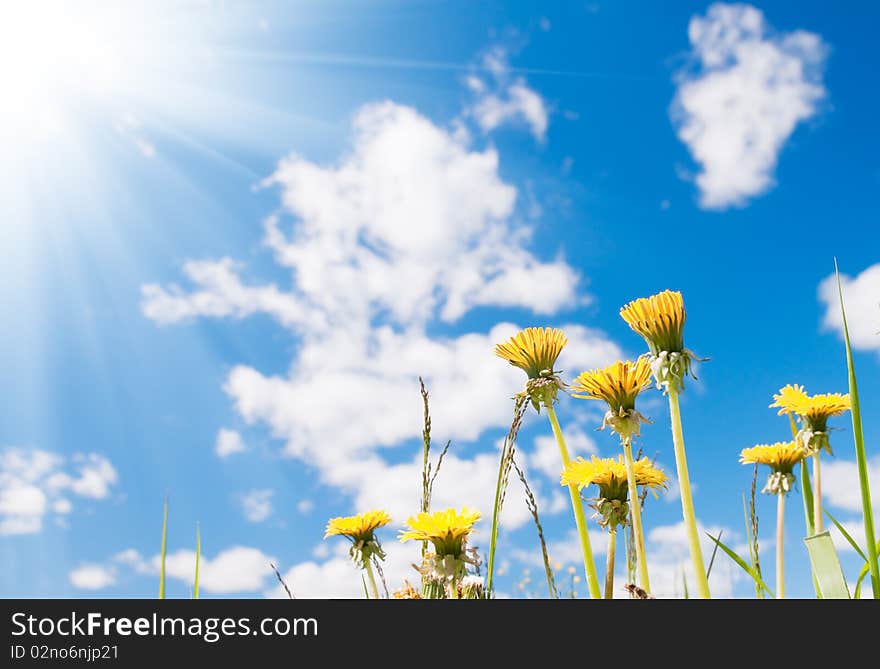
[[[476,96],[468,110],[483,132],[490,132],[508,123],[524,123],[538,141],[547,135],[550,112],[544,98],[530,88],[522,77],[512,77],[507,52],[502,47],[491,49],[482,66],[488,70],[489,82],[469,75],[467,87]]]

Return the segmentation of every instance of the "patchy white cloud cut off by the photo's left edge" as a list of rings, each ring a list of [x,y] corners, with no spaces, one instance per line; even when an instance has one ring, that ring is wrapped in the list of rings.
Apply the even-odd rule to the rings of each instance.
[[[65,494],[105,499],[117,479],[110,461],[96,453],[67,462],[47,451],[7,448],[0,452],[0,535],[37,533],[46,514],[71,512]]]

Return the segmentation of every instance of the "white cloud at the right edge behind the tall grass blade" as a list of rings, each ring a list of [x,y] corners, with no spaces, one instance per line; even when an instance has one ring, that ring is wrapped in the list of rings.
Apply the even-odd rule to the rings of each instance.
[[[880,263],[871,265],[855,278],[841,274],[840,286],[853,348],[880,351]],[[834,274],[819,284],[819,301],[825,305],[822,325],[843,337],[843,316]]]

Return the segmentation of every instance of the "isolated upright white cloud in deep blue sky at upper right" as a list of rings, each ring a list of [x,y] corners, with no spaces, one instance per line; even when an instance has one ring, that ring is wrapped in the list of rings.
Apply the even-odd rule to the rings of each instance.
[[[688,38],[696,71],[678,76],[673,121],[700,164],[701,205],[741,206],[772,187],[782,146],[825,97],[827,48],[803,30],[775,34],[744,4],[713,4]]]

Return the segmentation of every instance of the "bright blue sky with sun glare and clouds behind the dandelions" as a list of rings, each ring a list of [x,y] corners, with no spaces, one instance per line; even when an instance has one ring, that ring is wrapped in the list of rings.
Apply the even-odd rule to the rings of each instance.
[[[197,524],[205,596],[276,595],[270,559],[300,595],[356,595],[323,526],[415,511],[419,374],[453,442],[438,503],[488,526],[522,383],[492,345],[546,324],[569,334],[572,374],[632,357],[618,309],[665,288],[711,358],[683,405],[697,515],[741,543],[739,450],[788,434],[773,392],[846,388],[835,256],[876,487],[880,9],[33,6],[2,10],[3,596],[153,596],[165,495],[172,596]],[[643,407],[641,445],[672,471],[662,397]],[[559,414],[582,454],[616,453],[597,407]],[[836,426],[826,501],[853,521]],[[578,554],[548,435],[532,416],[519,449],[564,571]],[[795,495],[792,596],[810,592]],[[506,513],[500,589],[541,595],[518,486]],[[687,562],[679,522],[674,494],[649,503],[660,594]],[[413,556],[394,536],[399,580]],[[716,593],[750,594],[716,570]]]

